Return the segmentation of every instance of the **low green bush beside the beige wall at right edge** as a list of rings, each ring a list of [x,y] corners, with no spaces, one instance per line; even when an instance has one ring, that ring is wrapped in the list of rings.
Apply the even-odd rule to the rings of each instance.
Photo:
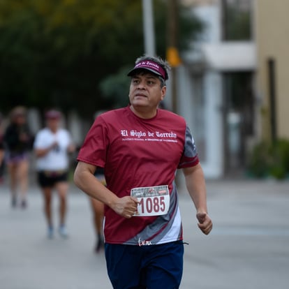
[[[249,172],[254,177],[286,178],[289,174],[289,140],[256,144],[249,158]]]

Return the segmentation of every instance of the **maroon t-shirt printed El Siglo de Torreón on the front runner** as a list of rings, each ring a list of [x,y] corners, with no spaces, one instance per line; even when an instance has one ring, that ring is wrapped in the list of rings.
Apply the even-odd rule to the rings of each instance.
[[[105,112],[91,126],[77,160],[103,167],[108,188],[119,197],[131,195],[132,188],[168,185],[168,214],[127,219],[105,207],[105,242],[140,245],[182,239],[175,172],[199,163],[183,117],[158,109],[156,117],[141,119],[129,106]]]

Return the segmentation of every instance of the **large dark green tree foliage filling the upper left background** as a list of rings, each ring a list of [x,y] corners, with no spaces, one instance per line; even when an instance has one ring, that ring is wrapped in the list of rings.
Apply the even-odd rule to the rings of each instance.
[[[157,52],[165,57],[166,1],[154,0],[154,17]],[[200,22],[181,13],[180,23],[184,49]],[[142,54],[141,1],[1,0],[1,110],[56,106],[90,118],[119,100],[100,84],[119,81],[111,75]],[[124,85],[113,87],[127,96]]]

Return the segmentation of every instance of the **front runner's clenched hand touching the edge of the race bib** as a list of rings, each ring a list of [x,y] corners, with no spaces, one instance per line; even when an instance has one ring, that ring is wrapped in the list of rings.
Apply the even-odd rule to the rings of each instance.
[[[114,203],[112,209],[124,218],[131,218],[135,212],[138,212],[138,199],[129,195],[119,198],[118,201]]]

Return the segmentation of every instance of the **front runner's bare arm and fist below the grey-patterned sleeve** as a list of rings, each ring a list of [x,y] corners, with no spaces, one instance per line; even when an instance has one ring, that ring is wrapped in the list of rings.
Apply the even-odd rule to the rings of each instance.
[[[213,228],[213,223],[207,212],[207,191],[204,172],[200,163],[191,168],[183,168],[186,188],[191,195],[197,210],[198,227],[205,235]]]

